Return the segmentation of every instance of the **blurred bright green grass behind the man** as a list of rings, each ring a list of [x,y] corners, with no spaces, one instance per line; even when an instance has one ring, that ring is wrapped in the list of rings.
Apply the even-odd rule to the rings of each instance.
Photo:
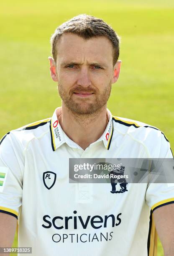
[[[0,137],[51,117],[61,105],[49,74],[49,38],[67,19],[87,13],[121,37],[122,68],[108,108],[158,127],[174,150],[173,0],[6,0],[0,9]]]

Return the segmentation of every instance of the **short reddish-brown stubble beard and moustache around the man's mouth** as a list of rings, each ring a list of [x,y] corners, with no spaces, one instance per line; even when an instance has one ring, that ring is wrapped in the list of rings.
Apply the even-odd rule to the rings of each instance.
[[[107,100],[110,97],[111,92],[111,81],[110,83],[105,87],[103,92],[98,92],[95,88],[87,87],[83,88],[80,86],[74,87],[69,92],[66,92],[64,90],[64,87],[59,82],[58,84],[58,90],[59,95],[61,97],[61,100],[64,102],[66,107],[72,112],[73,115],[86,115],[86,116],[92,116],[96,115],[98,112],[101,111],[102,107],[104,107],[107,104]],[[88,102],[88,98],[84,97],[79,99],[77,102],[72,98],[74,91],[85,91],[85,92],[94,92],[94,96],[92,96],[94,99],[92,102]],[[90,96],[89,96],[90,97]],[[91,100],[90,100],[91,101]]]

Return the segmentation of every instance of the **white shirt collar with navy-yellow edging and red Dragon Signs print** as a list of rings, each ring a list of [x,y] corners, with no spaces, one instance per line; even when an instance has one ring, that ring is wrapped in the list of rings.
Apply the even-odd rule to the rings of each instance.
[[[68,138],[68,136],[66,136],[66,134],[60,126],[59,120],[57,119],[58,112],[61,113],[61,107],[55,109],[54,114],[50,120],[51,146],[53,151],[56,151],[56,149],[59,148],[64,143],[67,143],[68,145],[71,144],[69,143],[71,140]],[[107,127],[102,136],[94,143],[97,143],[98,141],[103,141],[105,148],[109,150],[113,136],[113,119],[112,114],[108,109],[107,116],[109,119]]]

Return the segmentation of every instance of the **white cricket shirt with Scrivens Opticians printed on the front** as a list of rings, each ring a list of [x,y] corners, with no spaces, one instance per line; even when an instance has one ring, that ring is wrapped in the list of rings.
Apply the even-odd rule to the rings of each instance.
[[[18,246],[32,247],[33,256],[152,255],[152,211],[174,203],[174,187],[128,183],[111,193],[111,184],[71,184],[69,158],[172,158],[167,138],[107,110],[105,132],[83,150],[56,111],[1,140],[0,212],[18,218]]]

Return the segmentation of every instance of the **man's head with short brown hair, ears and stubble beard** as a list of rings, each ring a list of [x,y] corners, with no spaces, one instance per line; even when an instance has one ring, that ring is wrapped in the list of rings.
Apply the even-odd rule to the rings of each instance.
[[[93,114],[106,106],[120,72],[119,38],[101,19],[78,15],[51,36],[51,77],[58,82],[62,106]]]

